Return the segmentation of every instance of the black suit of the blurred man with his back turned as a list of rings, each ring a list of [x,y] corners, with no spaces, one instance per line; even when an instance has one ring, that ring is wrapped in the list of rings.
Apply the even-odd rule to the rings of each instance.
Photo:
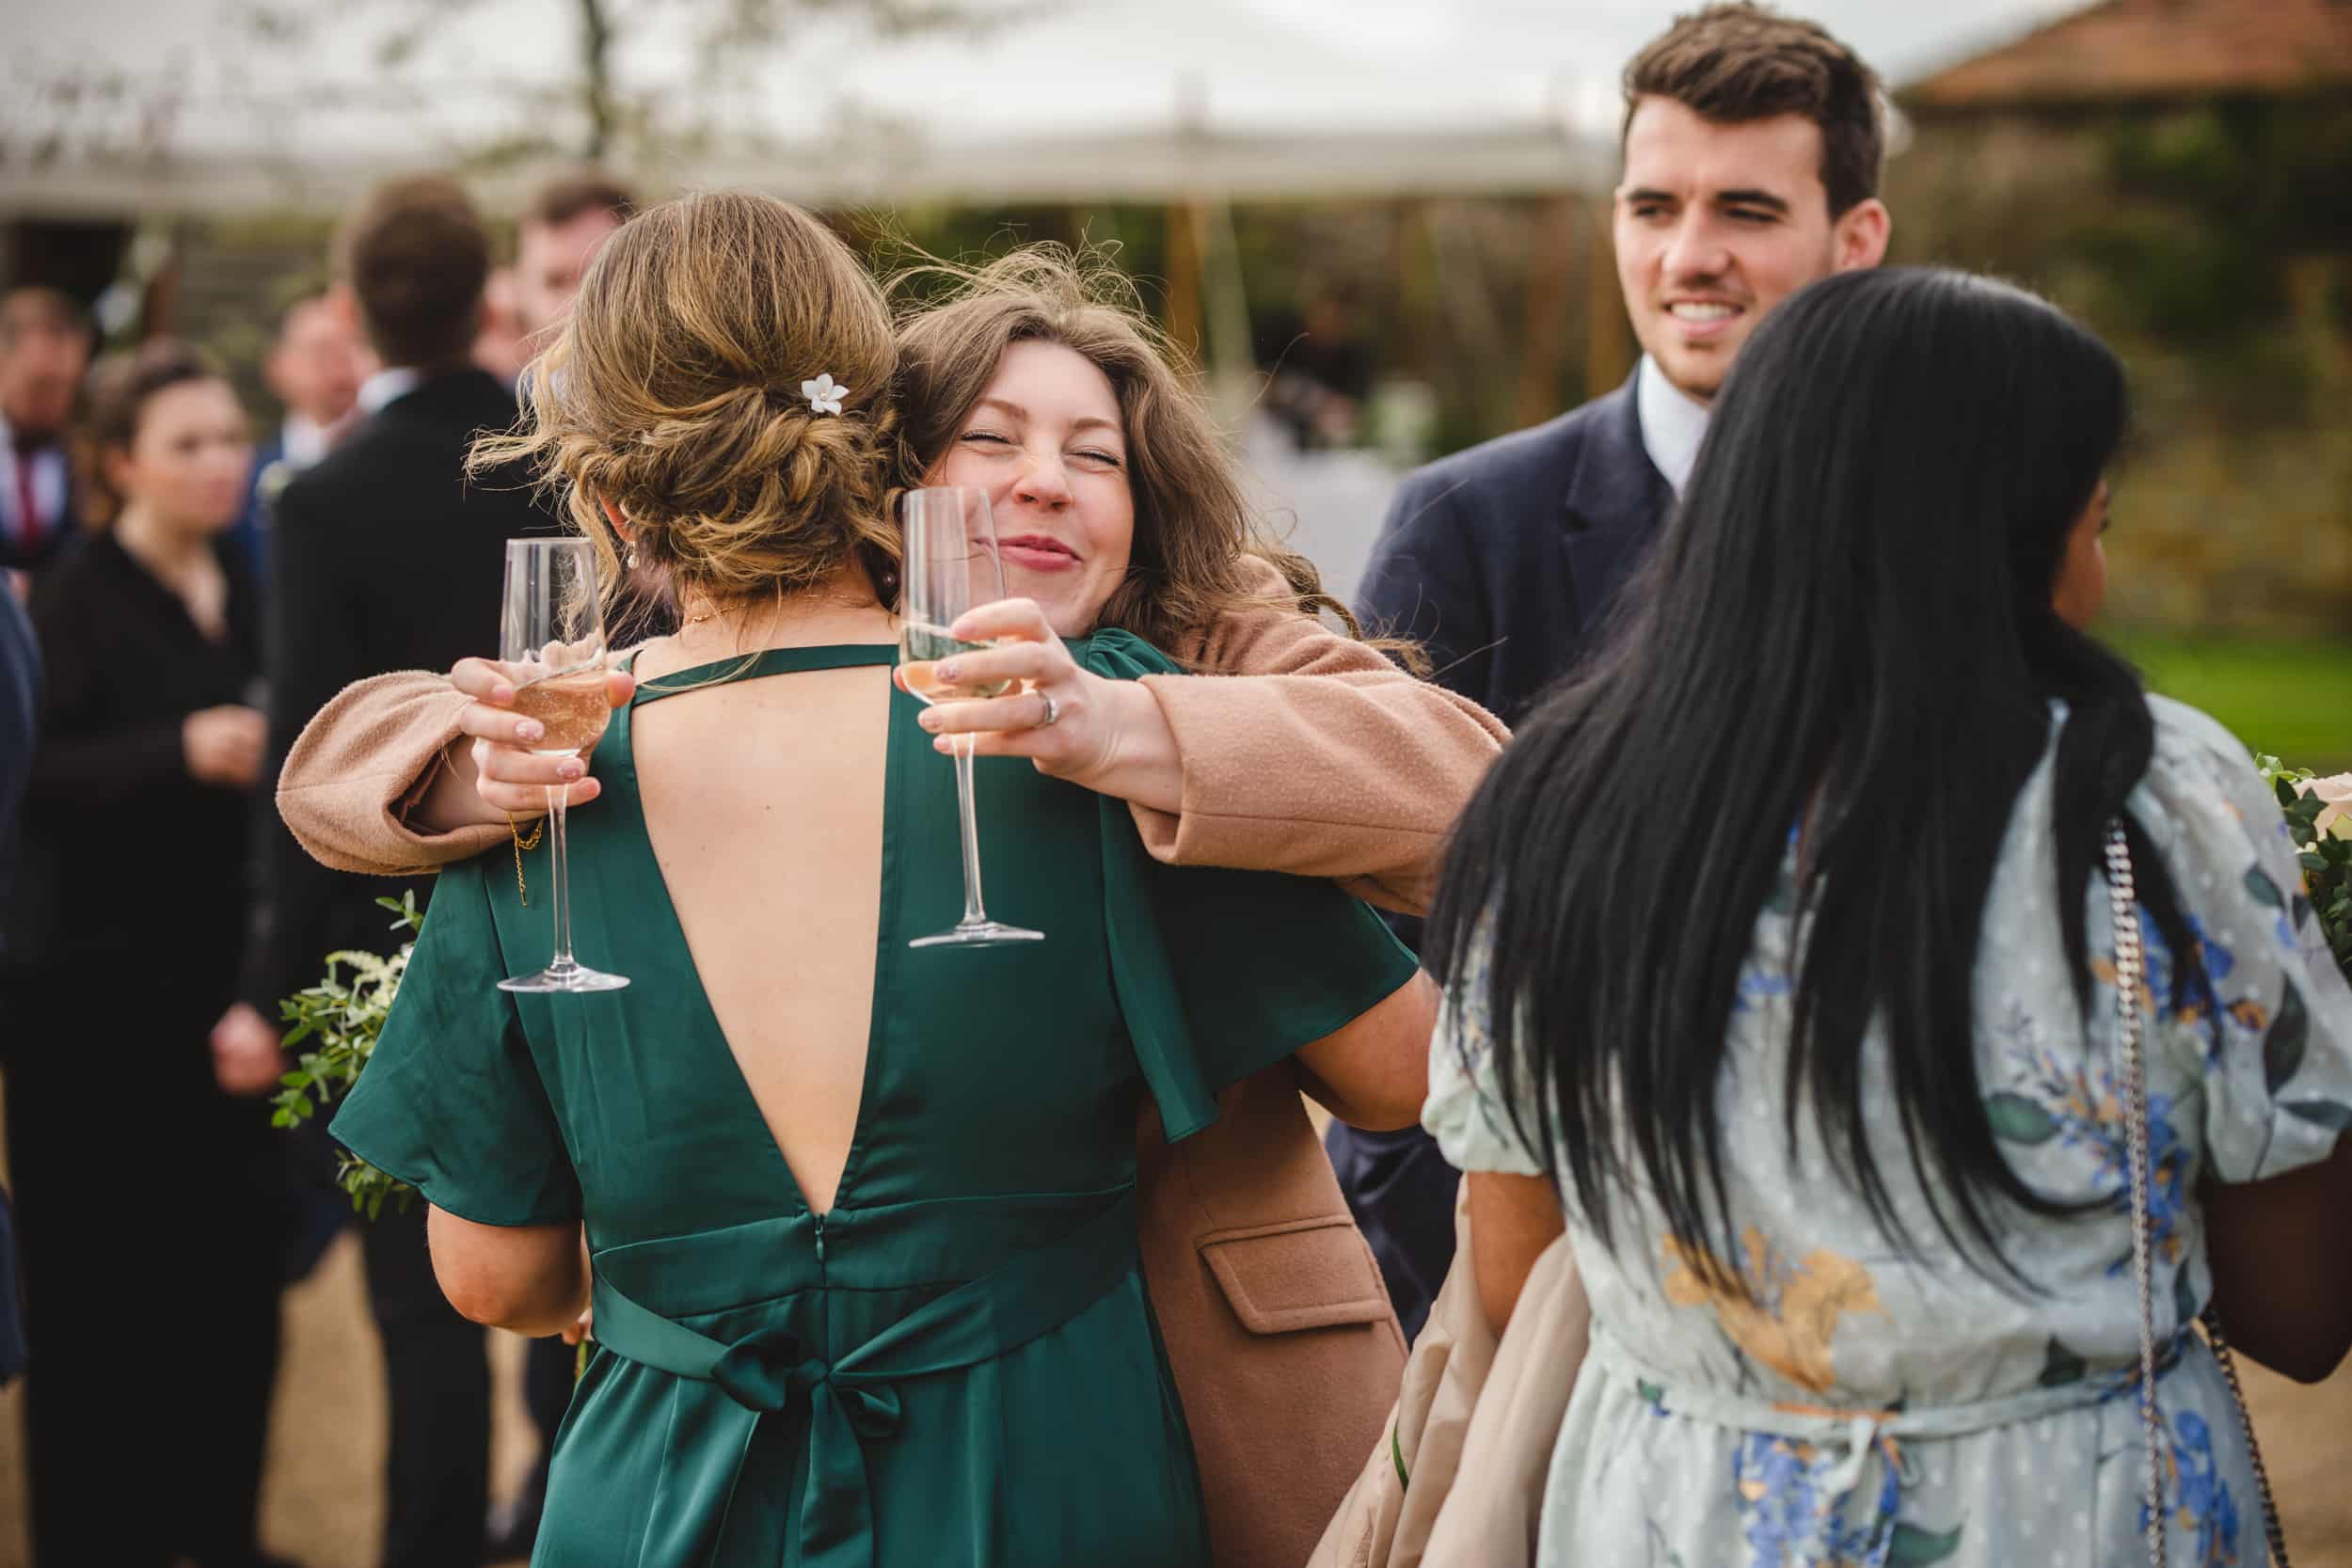
[[[270,771],[346,684],[386,670],[447,670],[499,642],[506,541],[550,531],[520,475],[466,480],[480,430],[515,400],[459,369],[383,404],[315,468],[287,482],[270,529]],[[397,945],[379,896],[426,877],[332,872],[280,825],[268,846],[268,917],[247,999],[266,1018],[318,983],[336,947]],[[442,1298],[423,1204],[367,1225],[367,1288],[390,1394],[383,1568],[468,1568],[489,1495],[489,1363],[482,1328]]]

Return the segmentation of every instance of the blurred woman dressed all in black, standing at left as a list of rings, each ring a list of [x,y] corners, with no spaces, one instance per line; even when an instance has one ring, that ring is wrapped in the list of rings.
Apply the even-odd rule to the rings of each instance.
[[[282,1220],[282,1147],[256,1100],[282,1070],[275,1034],[205,1048],[238,1006],[266,738],[245,705],[252,590],[226,538],[252,447],[221,371],[169,341],[101,367],[89,435],[111,524],[33,583],[47,696],[0,957],[40,1345],[33,1561],[235,1568],[268,1561]]]

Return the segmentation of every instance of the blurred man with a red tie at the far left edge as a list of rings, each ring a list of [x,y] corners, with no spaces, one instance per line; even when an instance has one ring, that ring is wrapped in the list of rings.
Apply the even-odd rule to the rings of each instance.
[[[66,428],[89,369],[89,320],[56,289],[0,296],[0,567],[31,571],[73,534]]]

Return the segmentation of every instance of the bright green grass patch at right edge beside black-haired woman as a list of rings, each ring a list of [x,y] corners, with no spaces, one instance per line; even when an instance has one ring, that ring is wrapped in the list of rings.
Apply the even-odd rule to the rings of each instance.
[[[2352,642],[2256,642],[2133,630],[2107,642],[2150,691],[2204,708],[2256,752],[2352,769]]]

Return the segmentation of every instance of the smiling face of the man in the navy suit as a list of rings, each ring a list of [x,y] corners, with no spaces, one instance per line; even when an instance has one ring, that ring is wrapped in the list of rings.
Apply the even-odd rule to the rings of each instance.
[[[1665,378],[1710,402],[1764,313],[1809,282],[1886,254],[1886,209],[1830,216],[1820,127],[1806,115],[1722,125],[1646,96],[1625,127],[1616,263],[1635,336]]]

